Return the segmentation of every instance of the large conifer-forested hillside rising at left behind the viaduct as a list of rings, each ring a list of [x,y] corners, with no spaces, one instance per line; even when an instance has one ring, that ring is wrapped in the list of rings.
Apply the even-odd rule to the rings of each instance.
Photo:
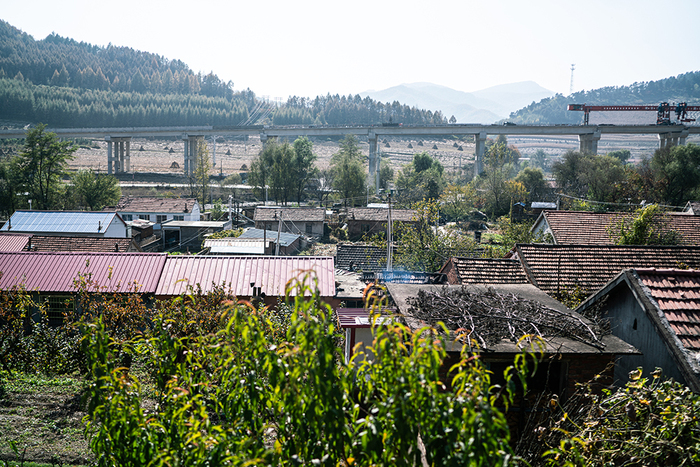
[[[179,60],[56,34],[37,41],[1,20],[0,110],[5,122],[52,127],[445,123],[440,112],[360,96],[293,97],[277,108]]]

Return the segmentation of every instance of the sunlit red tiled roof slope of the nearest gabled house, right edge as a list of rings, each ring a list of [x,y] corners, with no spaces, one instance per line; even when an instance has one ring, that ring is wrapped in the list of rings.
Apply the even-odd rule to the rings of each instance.
[[[700,350],[700,271],[637,269],[683,347]]]

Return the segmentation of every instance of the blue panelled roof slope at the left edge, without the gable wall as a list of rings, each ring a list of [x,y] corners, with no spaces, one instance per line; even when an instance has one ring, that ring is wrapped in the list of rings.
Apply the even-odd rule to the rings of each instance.
[[[15,211],[0,231],[101,234],[116,215],[116,212],[102,211]]]

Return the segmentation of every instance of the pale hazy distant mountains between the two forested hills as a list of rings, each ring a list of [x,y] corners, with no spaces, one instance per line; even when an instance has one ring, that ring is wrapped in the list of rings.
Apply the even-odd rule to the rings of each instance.
[[[366,91],[362,97],[379,102],[398,101],[423,109],[439,110],[458,123],[493,123],[533,101],[554,95],[532,81],[493,86],[481,91],[463,92],[432,83],[410,83],[381,91]]]

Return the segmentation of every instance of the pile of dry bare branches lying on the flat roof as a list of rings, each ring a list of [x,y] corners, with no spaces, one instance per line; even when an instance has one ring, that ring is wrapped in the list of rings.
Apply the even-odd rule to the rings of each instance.
[[[486,349],[503,339],[517,342],[525,335],[565,337],[602,349],[599,336],[605,329],[577,316],[489,288],[470,292],[465,288],[420,290],[408,299],[409,313],[431,326],[443,322],[452,331],[462,330]]]

